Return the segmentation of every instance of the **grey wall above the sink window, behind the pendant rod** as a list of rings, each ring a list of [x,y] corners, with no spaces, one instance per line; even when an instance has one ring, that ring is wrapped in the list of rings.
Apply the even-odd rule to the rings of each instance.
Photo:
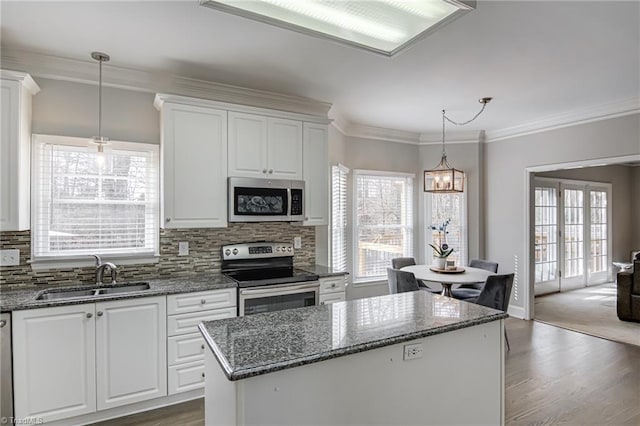
[[[98,86],[37,78],[33,133],[90,138],[98,135]],[[152,93],[104,87],[102,136],[160,143],[160,114]]]

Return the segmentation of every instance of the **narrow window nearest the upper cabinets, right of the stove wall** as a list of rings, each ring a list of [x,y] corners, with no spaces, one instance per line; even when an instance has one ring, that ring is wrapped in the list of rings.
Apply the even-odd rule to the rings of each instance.
[[[347,177],[342,164],[331,168],[331,266],[347,270]]]

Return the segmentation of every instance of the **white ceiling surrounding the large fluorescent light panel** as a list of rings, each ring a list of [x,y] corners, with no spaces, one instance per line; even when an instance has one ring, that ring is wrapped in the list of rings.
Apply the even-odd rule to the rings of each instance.
[[[351,123],[500,130],[640,99],[640,2],[478,1],[393,58],[185,1],[2,0],[1,47],[333,104]]]

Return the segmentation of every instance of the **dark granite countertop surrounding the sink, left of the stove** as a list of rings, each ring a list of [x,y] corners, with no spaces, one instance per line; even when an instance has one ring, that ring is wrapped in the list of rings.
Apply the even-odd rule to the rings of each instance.
[[[219,290],[236,287],[236,282],[222,274],[210,273],[179,278],[161,278],[155,280],[138,280],[134,282],[149,283],[148,290],[106,294],[93,297],[83,297],[64,300],[36,300],[38,293],[47,289],[74,288],[79,290],[96,288],[95,284],[78,284],[76,286],[55,286],[9,290],[0,292],[0,312],[11,312],[20,309],[45,308],[50,306],[77,305],[81,303],[95,303],[103,300],[132,299],[135,297],[160,296],[165,294],[191,293],[195,291]],[[118,284],[126,284],[118,283]],[[105,284],[104,287],[109,287]]]

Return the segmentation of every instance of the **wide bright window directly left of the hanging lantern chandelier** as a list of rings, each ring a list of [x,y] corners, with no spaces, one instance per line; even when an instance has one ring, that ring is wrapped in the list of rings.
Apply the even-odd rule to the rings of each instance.
[[[354,281],[386,279],[391,259],[413,256],[413,179],[355,171]]]

